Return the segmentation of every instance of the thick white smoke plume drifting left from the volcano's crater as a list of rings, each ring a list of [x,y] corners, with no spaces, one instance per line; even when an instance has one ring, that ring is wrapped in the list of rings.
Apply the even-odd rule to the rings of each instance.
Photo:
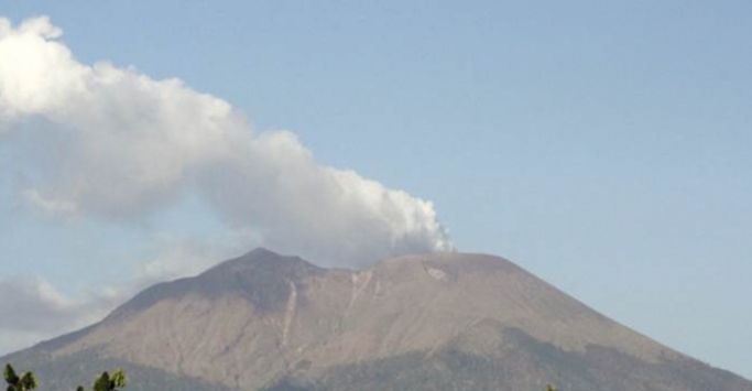
[[[254,133],[181,80],[81,64],[61,35],[0,19],[0,133],[24,152],[29,205],[123,221],[194,192],[230,229],[325,263],[451,249],[429,202],[318,165],[292,132]]]

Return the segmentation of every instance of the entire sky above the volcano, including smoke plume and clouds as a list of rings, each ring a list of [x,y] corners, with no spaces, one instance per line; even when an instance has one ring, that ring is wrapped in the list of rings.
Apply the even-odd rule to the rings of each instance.
[[[750,1],[0,15],[0,352],[259,245],[454,243],[752,378]]]

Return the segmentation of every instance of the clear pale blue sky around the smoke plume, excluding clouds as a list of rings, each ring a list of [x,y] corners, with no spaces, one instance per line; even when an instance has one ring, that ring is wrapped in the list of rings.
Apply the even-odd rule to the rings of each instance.
[[[290,130],[320,165],[432,200],[459,250],[752,378],[749,1],[8,1],[0,14],[48,15],[83,64],[176,77],[258,132]],[[0,138],[0,167],[23,171],[28,145]],[[19,202],[24,181],[0,175],[0,280],[44,279],[67,301],[127,291],[175,248],[212,259],[264,241],[228,239],[190,192],[133,221],[72,219]]]

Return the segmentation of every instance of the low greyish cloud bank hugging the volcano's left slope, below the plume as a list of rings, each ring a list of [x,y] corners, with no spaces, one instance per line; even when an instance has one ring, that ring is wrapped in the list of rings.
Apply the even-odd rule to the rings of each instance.
[[[92,325],[138,292],[163,281],[197,275],[242,254],[259,239],[249,232],[195,238],[159,232],[148,245],[154,258],[132,279],[96,291],[65,294],[44,279],[0,280],[0,356]],[[138,261],[134,261],[137,263]]]

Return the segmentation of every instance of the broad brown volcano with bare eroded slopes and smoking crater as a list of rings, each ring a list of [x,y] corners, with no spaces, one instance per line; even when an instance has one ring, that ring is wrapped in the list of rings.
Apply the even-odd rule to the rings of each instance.
[[[752,391],[504,259],[461,253],[350,271],[257,249],[2,360],[52,391],[113,367],[133,391]]]

